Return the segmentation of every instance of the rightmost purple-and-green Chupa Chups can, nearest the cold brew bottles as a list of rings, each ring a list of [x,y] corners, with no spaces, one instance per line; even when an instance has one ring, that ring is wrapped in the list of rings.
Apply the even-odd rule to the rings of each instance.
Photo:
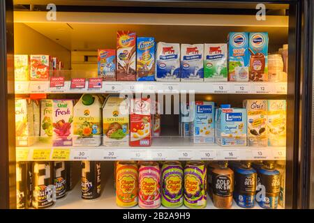
[[[187,162],[184,167],[184,205],[204,208],[207,205],[207,169],[203,162]]]

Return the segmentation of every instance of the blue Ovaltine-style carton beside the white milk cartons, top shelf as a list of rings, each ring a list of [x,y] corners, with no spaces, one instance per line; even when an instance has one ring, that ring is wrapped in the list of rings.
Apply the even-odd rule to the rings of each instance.
[[[155,80],[155,50],[156,43],[154,37],[137,37],[137,60],[136,74],[137,81]]]

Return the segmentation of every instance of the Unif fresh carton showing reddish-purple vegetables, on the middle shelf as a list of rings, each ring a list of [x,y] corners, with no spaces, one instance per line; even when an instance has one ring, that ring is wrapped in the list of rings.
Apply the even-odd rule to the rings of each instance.
[[[73,100],[52,101],[52,144],[72,146]]]

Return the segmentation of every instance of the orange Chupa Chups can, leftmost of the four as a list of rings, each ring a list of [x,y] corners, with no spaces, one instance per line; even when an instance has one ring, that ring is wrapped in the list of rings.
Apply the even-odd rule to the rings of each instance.
[[[116,203],[122,208],[137,205],[138,168],[136,162],[117,162]]]

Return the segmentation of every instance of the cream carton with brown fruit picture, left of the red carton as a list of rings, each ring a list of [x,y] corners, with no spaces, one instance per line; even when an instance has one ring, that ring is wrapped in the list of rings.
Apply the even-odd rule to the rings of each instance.
[[[128,146],[129,104],[126,98],[110,95],[103,105],[103,146]]]

